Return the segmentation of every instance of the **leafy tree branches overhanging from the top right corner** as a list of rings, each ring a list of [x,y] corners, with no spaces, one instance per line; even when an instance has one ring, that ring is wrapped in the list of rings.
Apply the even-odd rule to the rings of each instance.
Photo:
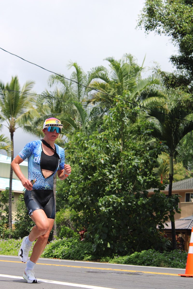
[[[193,6],[190,0],[146,0],[139,18],[139,26],[146,32],[170,36],[178,48],[170,61],[177,68],[174,73],[161,72],[168,87],[193,91]]]

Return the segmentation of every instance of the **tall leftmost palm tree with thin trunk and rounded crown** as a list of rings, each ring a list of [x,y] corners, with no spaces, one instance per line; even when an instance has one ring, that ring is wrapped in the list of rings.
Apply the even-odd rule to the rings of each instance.
[[[33,87],[33,81],[27,81],[21,88],[18,77],[12,77],[10,83],[4,85],[0,82],[0,118],[3,125],[10,131],[11,162],[14,158],[13,135],[18,127],[34,115],[34,97],[27,95]],[[12,177],[13,170],[10,166],[9,184],[9,229],[12,229]]]

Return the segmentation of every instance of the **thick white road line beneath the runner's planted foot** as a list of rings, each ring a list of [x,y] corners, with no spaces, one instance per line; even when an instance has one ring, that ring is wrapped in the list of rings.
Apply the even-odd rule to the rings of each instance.
[[[0,277],[13,278],[13,279],[22,279],[22,280],[23,280],[23,277],[21,277],[21,276],[13,276],[13,275],[0,274]],[[113,288],[107,288],[107,287],[84,285],[84,284],[76,284],[76,283],[68,283],[68,282],[60,282],[60,281],[46,280],[46,279],[39,279],[39,278],[38,278],[37,280],[40,281],[40,282],[45,282],[45,283],[52,283],[52,284],[66,285],[66,286],[74,286],[74,287],[79,287],[79,288],[88,288],[88,289],[113,289]]]

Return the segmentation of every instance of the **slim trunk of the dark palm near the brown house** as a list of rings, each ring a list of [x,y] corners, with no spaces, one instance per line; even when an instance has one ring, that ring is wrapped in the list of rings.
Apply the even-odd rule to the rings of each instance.
[[[174,161],[173,161],[173,155],[170,155],[170,173],[169,173],[169,188],[168,188],[168,197],[172,196],[172,182],[173,182],[173,176],[174,176]],[[170,211],[170,216],[174,218],[173,216],[174,210]],[[171,220],[171,226],[172,226],[172,249],[176,249],[176,229],[175,229],[175,222]]]

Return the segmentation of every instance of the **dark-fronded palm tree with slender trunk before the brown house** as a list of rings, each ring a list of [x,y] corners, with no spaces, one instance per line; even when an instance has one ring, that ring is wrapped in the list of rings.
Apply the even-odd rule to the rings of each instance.
[[[153,123],[152,136],[166,144],[167,153],[170,157],[169,167],[169,188],[168,197],[172,196],[172,182],[174,176],[174,159],[177,158],[177,147],[180,140],[193,130],[192,109],[184,108],[179,103],[174,104],[173,107],[153,107],[148,110],[148,117],[155,118],[156,122]],[[173,218],[173,210],[170,211],[170,219],[172,225],[172,246],[173,250],[176,249],[176,233],[175,223]]]

